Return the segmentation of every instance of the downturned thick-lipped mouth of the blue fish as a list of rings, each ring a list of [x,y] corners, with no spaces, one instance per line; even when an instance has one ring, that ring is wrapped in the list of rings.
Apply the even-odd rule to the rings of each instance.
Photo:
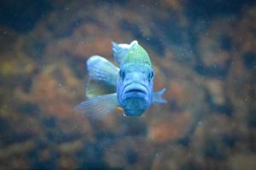
[[[148,88],[143,84],[130,83],[124,88],[123,98],[144,98],[148,94]]]

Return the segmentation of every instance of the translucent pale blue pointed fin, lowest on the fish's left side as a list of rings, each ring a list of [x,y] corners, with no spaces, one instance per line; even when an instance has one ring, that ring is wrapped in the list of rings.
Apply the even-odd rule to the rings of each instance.
[[[107,116],[118,106],[116,94],[105,94],[89,99],[75,106],[74,111],[79,111],[83,114],[94,118],[102,118]]]

